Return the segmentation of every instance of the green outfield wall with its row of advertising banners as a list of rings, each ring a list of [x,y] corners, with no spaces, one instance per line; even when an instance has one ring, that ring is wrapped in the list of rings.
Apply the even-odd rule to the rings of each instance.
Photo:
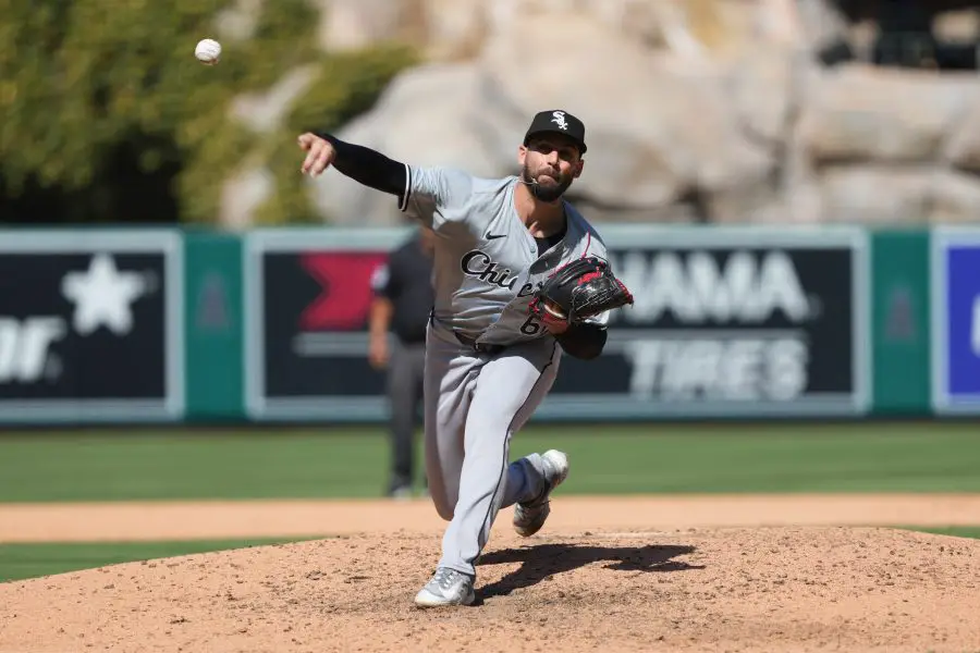
[[[8,231],[0,422],[387,419],[404,230]],[[636,296],[538,421],[980,414],[980,227],[602,226]]]

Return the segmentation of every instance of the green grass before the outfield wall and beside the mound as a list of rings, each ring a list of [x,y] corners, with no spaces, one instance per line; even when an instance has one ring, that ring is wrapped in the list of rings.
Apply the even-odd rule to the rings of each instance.
[[[539,427],[513,456],[550,447],[572,459],[568,494],[980,492],[969,423]],[[373,497],[388,456],[366,428],[7,432],[0,502]],[[0,544],[0,581],[266,542]]]

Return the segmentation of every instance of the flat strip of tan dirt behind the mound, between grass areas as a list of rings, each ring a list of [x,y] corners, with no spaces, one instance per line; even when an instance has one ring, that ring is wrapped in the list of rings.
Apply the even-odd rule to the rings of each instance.
[[[494,530],[510,528],[510,510]],[[441,531],[428,500],[0,504],[0,542],[303,538]],[[978,526],[980,494],[561,496],[551,533],[759,526]]]

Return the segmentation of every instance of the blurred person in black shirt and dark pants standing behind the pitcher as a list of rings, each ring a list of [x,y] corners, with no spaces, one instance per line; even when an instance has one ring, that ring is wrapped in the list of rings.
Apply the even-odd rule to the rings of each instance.
[[[388,495],[395,498],[412,495],[414,434],[426,366],[426,325],[436,300],[433,238],[430,229],[419,229],[391,254],[371,280],[375,299],[368,359],[375,369],[388,372],[392,447]],[[391,348],[390,331],[395,336]]]

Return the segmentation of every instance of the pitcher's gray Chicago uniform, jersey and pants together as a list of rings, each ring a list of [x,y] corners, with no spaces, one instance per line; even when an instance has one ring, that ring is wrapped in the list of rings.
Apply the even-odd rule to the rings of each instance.
[[[566,233],[539,256],[514,204],[522,183],[516,176],[487,180],[451,168],[406,168],[400,208],[438,236],[425,431],[429,492],[450,520],[440,566],[475,576],[474,562],[497,513],[534,498],[546,482],[537,454],[509,464],[511,436],[551,390],[562,355],[529,312],[532,293],[556,268],[587,255],[607,258],[607,250],[565,202]],[[591,321],[608,320],[603,313]],[[457,333],[510,346],[490,355],[462,344]]]

